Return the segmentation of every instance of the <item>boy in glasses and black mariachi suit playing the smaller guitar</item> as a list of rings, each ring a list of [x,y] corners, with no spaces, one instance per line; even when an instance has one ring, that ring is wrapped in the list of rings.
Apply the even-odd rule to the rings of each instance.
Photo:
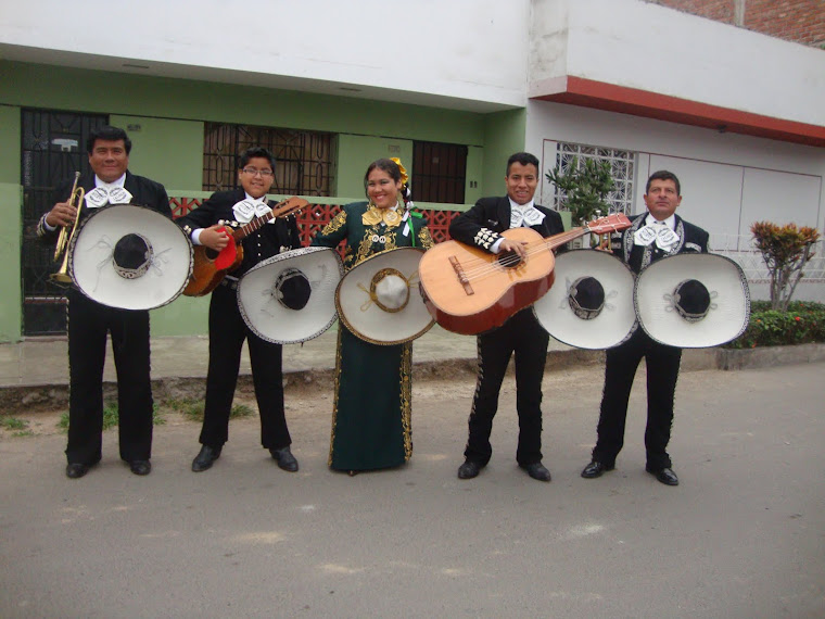
[[[266,193],[275,181],[275,157],[264,148],[251,148],[240,157],[238,179],[241,187],[213,193],[199,209],[177,219],[192,243],[221,251],[234,240],[226,226],[238,227],[271,213]],[[301,247],[294,215],[276,217],[242,240],[243,260],[212,292],[210,301],[210,366],[206,376],[206,405],[201,429],[201,451],[192,470],[204,471],[220,456],[229,438],[229,414],[238,383],[243,341],[249,342],[252,378],[261,415],[261,442],[278,466],[294,472],[299,465],[292,455],[283,409],[282,348],[257,336],[238,307],[238,279],[259,262]],[[306,279],[292,278],[282,290],[289,303],[301,306],[309,294]]]

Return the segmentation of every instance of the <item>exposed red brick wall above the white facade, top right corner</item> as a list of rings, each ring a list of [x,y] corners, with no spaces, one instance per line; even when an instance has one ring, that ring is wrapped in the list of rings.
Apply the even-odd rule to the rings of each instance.
[[[656,4],[734,24],[737,0],[648,0]],[[805,46],[825,46],[824,0],[739,0],[742,27]]]

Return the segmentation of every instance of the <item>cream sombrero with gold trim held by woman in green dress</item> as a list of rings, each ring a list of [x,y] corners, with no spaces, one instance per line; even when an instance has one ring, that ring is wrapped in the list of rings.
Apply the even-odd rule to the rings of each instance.
[[[377,253],[341,279],[335,306],[346,327],[372,344],[401,344],[423,336],[435,323],[418,289],[423,250]]]

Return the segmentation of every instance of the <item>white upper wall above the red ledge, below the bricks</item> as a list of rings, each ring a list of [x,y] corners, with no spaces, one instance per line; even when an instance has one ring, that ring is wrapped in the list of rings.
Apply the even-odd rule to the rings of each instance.
[[[533,0],[529,96],[572,75],[825,125],[825,53],[640,0]]]

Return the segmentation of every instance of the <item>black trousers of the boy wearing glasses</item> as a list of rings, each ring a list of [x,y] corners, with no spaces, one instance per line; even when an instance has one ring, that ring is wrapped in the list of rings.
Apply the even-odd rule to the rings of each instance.
[[[290,445],[283,413],[282,349],[262,340],[243,321],[236,291],[218,286],[210,302],[210,369],[206,375],[206,406],[200,441],[219,447],[229,439],[241,348],[249,342],[252,380],[261,414],[261,442],[268,450]]]

